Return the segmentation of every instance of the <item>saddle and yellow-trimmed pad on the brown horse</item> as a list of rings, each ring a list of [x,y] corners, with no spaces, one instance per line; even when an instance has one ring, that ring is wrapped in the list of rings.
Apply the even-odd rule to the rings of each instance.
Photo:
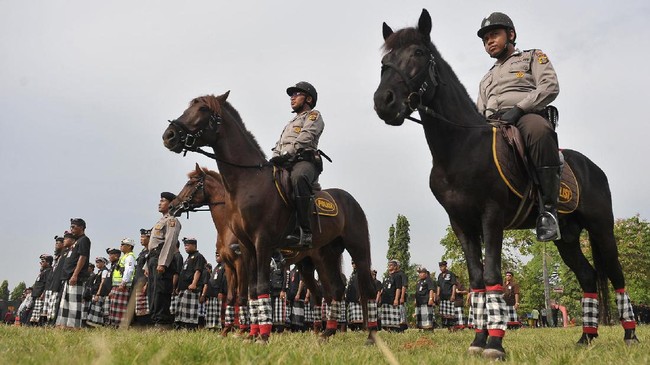
[[[290,172],[287,169],[273,166],[273,182],[280,198],[287,207],[295,209],[290,177]],[[332,195],[326,190],[321,190],[318,181],[312,184],[312,190],[314,191],[315,207],[313,213],[319,216],[336,217],[339,214],[339,207]]]

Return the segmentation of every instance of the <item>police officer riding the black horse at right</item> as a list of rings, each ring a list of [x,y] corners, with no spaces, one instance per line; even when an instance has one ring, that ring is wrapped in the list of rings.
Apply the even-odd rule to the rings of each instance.
[[[519,129],[535,167],[541,193],[537,239],[558,240],[560,157],[555,133],[557,109],[549,107],[560,92],[557,75],[544,52],[535,49],[520,51],[515,47],[517,32],[506,14],[496,12],[483,19],[477,35],[483,40],[485,51],[496,59],[481,80],[478,110],[490,119],[500,119]]]

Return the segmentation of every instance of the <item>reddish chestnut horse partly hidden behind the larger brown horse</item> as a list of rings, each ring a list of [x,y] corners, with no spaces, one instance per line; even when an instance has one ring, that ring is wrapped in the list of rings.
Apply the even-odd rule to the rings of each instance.
[[[196,164],[195,169],[188,173],[188,177],[189,181],[171,202],[170,213],[180,215],[206,205],[209,207],[212,221],[218,233],[217,252],[219,252],[226,264],[226,277],[228,280],[227,303],[230,307],[238,305],[242,308],[246,305],[248,299],[247,265],[248,267],[251,265],[250,262],[244,262],[242,256],[247,258],[251,256],[248,254],[239,255],[232,248],[234,244],[239,243],[239,240],[227,225],[228,221],[225,209],[226,190],[223,186],[221,175],[207,168],[202,169]],[[337,250],[334,249],[334,252],[337,252]],[[320,303],[322,298],[325,298],[325,301],[329,303],[336,296],[336,293],[322,293],[314,276],[314,270],[316,269],[314,262],[320,263],[320,256],[322,256],[321,252],[315,249],[290,252],[285,262],[287,265],[297,265],[305,286],[310,290],[316,303]],[[338,275],[336,273],[333,274],[335,278],[343,277],[341,262],[342,255],[339,254],[338,264],[326,268],[328,271],[338,271]],[[322,264],[319,266],[323,270]],[[320,277],[327,277],[323,273],[319,273],[319,275]],[[326,287],[329,289],[345,285],[345,283],[341,284],[341,282],[328,284]],[[320,328],[320,322],[315,322],[314,327],[315,330],[318,330]],[[222,334],[225,335],[230,329],[230,327],[224,328]]]

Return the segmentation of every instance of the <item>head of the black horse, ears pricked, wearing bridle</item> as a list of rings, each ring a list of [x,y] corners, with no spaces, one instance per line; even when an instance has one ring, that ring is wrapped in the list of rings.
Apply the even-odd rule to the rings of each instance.
[[[433,98],[438,77],[431,44],[431,16],[422,10],[417,28],[397,32],[384,23],[384,51],[381,80],[375,91],[375,111],[390,125],[401,125],[404,118]]]

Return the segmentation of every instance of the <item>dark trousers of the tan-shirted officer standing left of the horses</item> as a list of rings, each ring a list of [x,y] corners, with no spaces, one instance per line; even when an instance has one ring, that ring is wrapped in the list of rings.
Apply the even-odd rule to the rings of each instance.
[[[153,250],[152,250],[153,251]],[[153,254],[152,254],[153,253]],[[147,279],[147,297],[149,298],[149,315],[151,323],[172,324],[174,317],[169,307],[172,304],[172,278],[170,270],[165,270],[159,274],[156,271],[158,267],[158,255],[155,252],[149,254],[147,268],[149,278]]]

